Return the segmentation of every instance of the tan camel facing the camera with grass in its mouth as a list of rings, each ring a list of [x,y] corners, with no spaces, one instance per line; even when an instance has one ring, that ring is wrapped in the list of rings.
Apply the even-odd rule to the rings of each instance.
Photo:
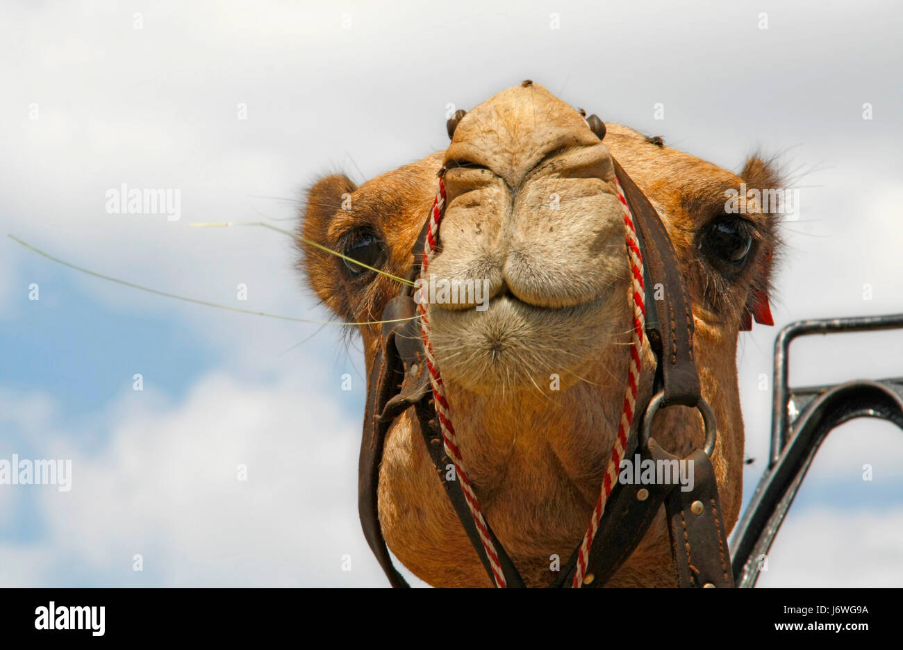
[[[739,174],[622,125],[603,141],[578,109],[538,84],[504,90],[466,113],[442,152],[358,186],[342,174],[307,192],[298,232],[404,276],[444,166],[447,208],[439,277],[488,280],[484,311],[430,304],[461,458],[479,503],[526,585],[554,580],[550,557],[580,543],[615,436],[628,368],[631,312],[624,228],[612,156],[656,207],[692,302],[703,397],[716,414],[712,464],[725,525],[740,513],[743,420],[736,352],[744,316],[768,295],[777,217],[725,210],[727,190],[779,187],[750,157]],[[383,307],[399,283],[301,244],[299,267],[319,300],[356,326],[371,370]],[[643,367],[655,366],[648,343]],[[638,395],[648,398],[653,373]],[[389,429],[379,519],[399,562],[433,586],[489,587],[417,430],[413,409]],[[694,409],[656,414],[656,440],[680,457],[701,446]],[[675,584],[659,513],[613,587]]]

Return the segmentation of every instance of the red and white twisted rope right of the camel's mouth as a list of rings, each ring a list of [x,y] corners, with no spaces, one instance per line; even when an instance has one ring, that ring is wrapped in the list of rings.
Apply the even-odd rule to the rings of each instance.
[[[646,327],[646,305],[643,302],[645,295],[643,286],[643,255],[640,255],[639,252],[637,227],[634,223],[633,215],[630,213],[627,198],[624,196],[624,190],[621,188],[617,178],[615,178],[615,189],[618,190],[618,200],[624,213],[624,230],[627,234],[627,256],[631,274],[631,287],[633,289],[631,292],[633,299],[631,301],[633,303],[633,344],[630,346],[628,387],[624,395],[624,407],[621,410],[618,423],[618,438],[611,449],[609,465],[605,469],[605,476],[602,478],[602,487],[599,491],[599,498],[596,500],[596,506],[592,510],[590,525],[586,529],[586,534],[583,535],[583,540],[580,543],[580,552],[577,554],[577,571],[574,573],[571,584],[574,589],[580,589],[583,586],[583,580],[586,578],[587,562],[590,559],[592,540],[599,530],[602,513],[605,512],[605,504],[608,501],[615,481],[618,479],[620,462],[624,458],[624,450],[627,447],[628,435],[630,434],[630,425],[633,422],[634,411],[637,407],[639,373],[643,369],[640,361],[640,353],[643,349],[643,330]]]

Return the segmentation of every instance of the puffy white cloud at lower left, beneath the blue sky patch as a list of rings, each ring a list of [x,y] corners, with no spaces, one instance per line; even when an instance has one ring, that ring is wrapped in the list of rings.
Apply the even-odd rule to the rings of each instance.
[[[310,382],[207,376],[175,406],[128,395],[99,451],[48,427],[36,415],[48,407],[34,397],[10,419],[46,457],[72,460],[72,489],[0,490],[4,509],[11,489],[38,490],[46,529],[40,543],[0,546],[5,585],[386,584],[358,524],[359,422]]]

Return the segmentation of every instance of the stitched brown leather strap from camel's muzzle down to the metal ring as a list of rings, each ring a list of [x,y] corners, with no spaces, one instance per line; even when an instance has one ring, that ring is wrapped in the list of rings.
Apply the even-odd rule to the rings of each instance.
[[[701,388],[693,354],[693,311],[690,311],[671,237],[652,203],[618,161],[614,161],[614,167],[643,245],[643,264],[648,270],[646,331],[658,359],[656,371],[662,373],[664,381],[664,405],[695,406]],[[655,300],[655,286],[649,279],[663,284],[662,300]]]

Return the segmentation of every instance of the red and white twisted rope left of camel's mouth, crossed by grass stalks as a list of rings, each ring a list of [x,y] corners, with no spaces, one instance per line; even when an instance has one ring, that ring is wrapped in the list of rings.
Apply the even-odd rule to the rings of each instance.
[[[426,245],[424,246],[424,259],[420,265],[420,276],[426,278],[426,270],[436,254],[436,243],[439,236],[439,224],[442,222],[442,215],[445,213],[445,182],[442,177],[439,178],[439,192],[436,194],[436,200],[433,201],[433,211],[430,213],[430,225],[426,231]],[[439,425],[442,429],[442,442],[445,447],[445,454],[452,459],[454,464],[455,476],[461,481],[461,490],[464,492],[464,500],[470,510],[470,516],[473,517],[473,523],[477,526],[479,540],[483,543],[486,556],[489,558],[489,566],[495,577],[497,587],[507,587],[505,575],[502,572],[501,564],[498,562],[498,552],[489,537],[489,527],[486,525],[486,519],[479,509],[477,495],[474,494],[473,487],[470,485],[470,478],[464,471],[461,462],[461,451],[458,448],[458,439],[455,436],[454,426],[452,425],[452,410],[449,408],[448,400],[445,399],[445,388],[442,385],[442,375],[439,373],[439,366],[433,357],[433,346],[430,343],[430,320],[426,315],[424,303],[420,301],[417,305],[420,311],[420,331],[424,337],[424,348],[426,350],[426,367],[430,370],[430,384],[433,386],[433,400],[436,405],[436,414],[439,416]]]

